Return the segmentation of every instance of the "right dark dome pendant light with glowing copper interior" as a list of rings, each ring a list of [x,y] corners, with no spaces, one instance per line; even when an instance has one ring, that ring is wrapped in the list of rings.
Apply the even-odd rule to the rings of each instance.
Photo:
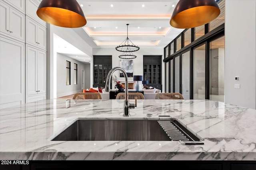
[[[176,5],[170,25],[175,28],[193,28],[204,25],[220,15],[215,0],[180,0]]]

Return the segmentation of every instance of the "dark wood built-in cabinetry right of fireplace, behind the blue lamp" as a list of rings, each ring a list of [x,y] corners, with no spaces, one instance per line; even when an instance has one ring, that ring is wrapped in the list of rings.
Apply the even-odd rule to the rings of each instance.
[[[143,80],[148,80],[148,86],[162,90],[162,56],[143,56]]]

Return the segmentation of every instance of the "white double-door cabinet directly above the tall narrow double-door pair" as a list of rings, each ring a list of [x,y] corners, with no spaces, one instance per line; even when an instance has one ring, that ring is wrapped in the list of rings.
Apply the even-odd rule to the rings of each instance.
[[[26,17],[26,43],[46,49],[46,28]]]

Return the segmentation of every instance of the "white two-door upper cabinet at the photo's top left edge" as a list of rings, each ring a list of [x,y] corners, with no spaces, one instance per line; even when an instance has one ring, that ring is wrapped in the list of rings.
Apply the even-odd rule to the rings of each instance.
[[[0,33],[24,41],[25,15],[0,2]]]

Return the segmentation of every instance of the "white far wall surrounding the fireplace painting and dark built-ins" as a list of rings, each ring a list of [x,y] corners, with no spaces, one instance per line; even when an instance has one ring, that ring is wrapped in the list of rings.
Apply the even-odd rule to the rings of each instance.
[[[92,50],[93,55],[112,55],[112,68],[119,66],[119,60],[118,57],[122,52],[116,51],[116,49],[113,48],[94,48]],[[162,55],[162,60],[164,59],[164,48],[143,48],[140,47],[139,51],[134,52],[134,55],[137,57],[133,60],[133,75],[143,75],[143,55]],[[165,89],[165,64],[162,63],[162,89]],[[117,77],[119,77],[119,71],[114,72]],[[133,81],[133,79],[131,78]],[[114,87],[114,86],[112,86]],[[140,82],[140,88],[142,88],[142,82]]]

